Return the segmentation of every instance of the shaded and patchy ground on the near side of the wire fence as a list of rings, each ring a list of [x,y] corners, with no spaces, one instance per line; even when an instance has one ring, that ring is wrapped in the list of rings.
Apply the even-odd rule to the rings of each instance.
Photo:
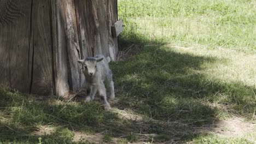
[[[253,68],[253,63],[246,60],[252,62],[253,55],[173,45],[128,47],[137,53],[126,49],[119,57],[122,61],[111,64],[117,95],[110,102],[112,111],[104,111],[98,98],[85,103],[84,91],[61,99],[2,89],[1,140],[39,142],[40,137],[43,143],[255,142],[255,89],[229,77],[235,75],[236,80],[250,83],[245,75],[237,73],[244,67]]]

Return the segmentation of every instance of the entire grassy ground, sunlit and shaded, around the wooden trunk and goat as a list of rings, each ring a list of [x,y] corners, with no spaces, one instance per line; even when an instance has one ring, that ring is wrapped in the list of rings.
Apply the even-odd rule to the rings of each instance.
[[[255,143],[255,4],[119,0],[113,111],[0,89],[0,143]]]

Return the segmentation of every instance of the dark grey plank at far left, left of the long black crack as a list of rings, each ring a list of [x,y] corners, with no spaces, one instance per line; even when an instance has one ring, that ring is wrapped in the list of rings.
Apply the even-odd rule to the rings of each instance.
[[[31,1],[13,1],[21,9],[24,16],[16,19],[9,26],[13,41],[10,49],[10,84],[11,88],[21,92],[29,92],[31,82],[31,55],[29,47]]]

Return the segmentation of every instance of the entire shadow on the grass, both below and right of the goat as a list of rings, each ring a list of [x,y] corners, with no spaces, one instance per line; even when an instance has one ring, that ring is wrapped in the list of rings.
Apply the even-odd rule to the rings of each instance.
[[[111,64],[117,95],[112,106],[143,118],[129,119],[120,117],[117,111],[106,112],[98,101],[37,101],[1,90],[0,140],[38,142],[38,137],[42,137],[44,143],[71,143],[72,131],[104,131],[110,137],[131,142],[182,142],[211,131],[210,127],[208,132],[200,129],[222,115],[222,110],[211,102],[234,105],[242,116],[252,111],[255,103],[242,95],[253,94],[253,88],[209,80],[197,73],[204,70],[204,64],[222,63],[223,59],[174,51],[158,41],[120,41],[121,46],[127,47],[134,43],[142,46],[138,55]],[[35,135],[34,131],[44,125],[57,130]]]

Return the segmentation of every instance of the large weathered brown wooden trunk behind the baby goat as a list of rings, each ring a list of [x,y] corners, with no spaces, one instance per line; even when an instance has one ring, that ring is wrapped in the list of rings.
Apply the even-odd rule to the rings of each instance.
[[[66,95],[84,85],[77,60],[115,60],[117,0],[0,1],[0,86]]]

